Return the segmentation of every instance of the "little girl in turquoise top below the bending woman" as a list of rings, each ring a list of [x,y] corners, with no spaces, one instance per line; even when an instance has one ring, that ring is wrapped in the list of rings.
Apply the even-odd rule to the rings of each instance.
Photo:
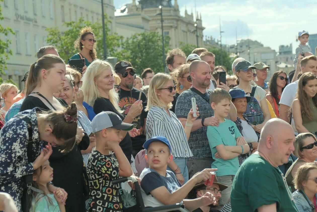
[[[53,168],[46,160],[42,166],[34,170],[32,183],[32,205],[30,212],[65,212],[65,206],[61,202],[64,193],[57,189],[53,193],[49,190],[49,182],[53,180]]]

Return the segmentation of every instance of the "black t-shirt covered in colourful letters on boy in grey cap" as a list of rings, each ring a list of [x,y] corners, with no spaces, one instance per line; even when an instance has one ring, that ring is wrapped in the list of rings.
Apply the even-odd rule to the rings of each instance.
[[[119,164],[114,153],[103,155],[93,149],[88,158],[87,175],[90,187],[87,211],[121,212],[121,183],[111,182],[119,178]]]

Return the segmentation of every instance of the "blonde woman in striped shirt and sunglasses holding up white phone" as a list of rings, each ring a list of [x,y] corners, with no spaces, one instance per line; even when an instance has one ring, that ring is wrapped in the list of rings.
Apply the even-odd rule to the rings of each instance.
[[[170,111],[175,92],[170,75],[164,73],[154,75],[150,82],[146,106],[146,111],[149,111],[146,119],[146,140],[156,135],[164,136],[169,140],[173,161],[168,164],[167,168],[175,173],[181,184],[184,184],[188,181],[186,160],[193,156],[187,141],[192,123],[199,116],[199,112],[197,108],[197,117],[193,117],[191,110],[188,113],[185,128],[183,128],[175,113]]]

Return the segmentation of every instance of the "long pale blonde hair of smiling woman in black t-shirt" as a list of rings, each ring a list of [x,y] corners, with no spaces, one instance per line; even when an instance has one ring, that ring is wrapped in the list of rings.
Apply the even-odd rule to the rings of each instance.
[[[94,79],[97,79],[105,69],[110,69],[111,72],[115,74],[110,63],[104,60],[96,59],[88,66],[86,73],[82,78],[83,83],[81,89],[84,93],[84,101],[92,107],[94,106],[95,100],[101,97],[100,91],[94,83]],[[123,113],[123,110],[121,110],[118,105],[119,95],[117,92],[115,92],[114,88],[109,91],[108,95],[110,102],[113,104],[116,110],[119,113]]]

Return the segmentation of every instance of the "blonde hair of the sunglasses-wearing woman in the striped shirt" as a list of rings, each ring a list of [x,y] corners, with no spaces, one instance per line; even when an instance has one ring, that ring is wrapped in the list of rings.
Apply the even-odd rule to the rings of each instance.
[[[169,80],[172,80],[172,77],[165,73],[157,73],[154,75],[150,82],[148,97],[147,97],[147,105],[145,111],[149,111],[151,107],[165,107],[165,104],[159,99],[159,96],[156,94],[156,90],[164,88]],[[168,103],[167,108],[172,108],[172,103]]]

